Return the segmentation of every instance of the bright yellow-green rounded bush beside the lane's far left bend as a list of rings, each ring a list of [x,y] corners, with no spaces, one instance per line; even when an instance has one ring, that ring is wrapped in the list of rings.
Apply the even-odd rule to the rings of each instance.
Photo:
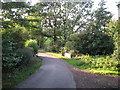
[[[25,42],[25,47],[32,47],[32,48],[34,49],[34,53],[35,53],[35,54],[37,53],[38,48],[39,48],[39,46],[38,46],[38,44],[37,44],[37,41],[36,41],[36,40],[32,40],[32,39],[27,40],[27,41]]]

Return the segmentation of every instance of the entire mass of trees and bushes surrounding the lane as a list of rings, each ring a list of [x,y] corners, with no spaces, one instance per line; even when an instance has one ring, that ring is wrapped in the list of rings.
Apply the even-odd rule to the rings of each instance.
[[[29,64],[38,49],[83,54],[76,58],[84,64],[117,71],[119,21],[112,20],[105,1],[95,10],[93,4],[2,2],[3,72]]]

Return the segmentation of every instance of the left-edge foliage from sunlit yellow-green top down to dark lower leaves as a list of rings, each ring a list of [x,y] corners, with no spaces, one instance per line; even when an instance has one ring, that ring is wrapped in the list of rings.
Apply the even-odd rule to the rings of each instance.
[[[23,61],[23,55],[17,52],[18,48],[23,48],[27,37],[24,27],[16,25],[14,28],[2,29],[2,61],[4,71],[11,71]],[[24,33],[25,32],[25,33]]]

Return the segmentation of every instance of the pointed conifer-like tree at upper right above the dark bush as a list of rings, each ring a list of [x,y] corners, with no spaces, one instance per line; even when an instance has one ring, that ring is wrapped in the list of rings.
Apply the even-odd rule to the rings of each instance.
[[[112,14],[106,11],[105,1],[101,0],[99,3],[99,8],[93,12],[93,18],[91,19],[91,24],[89,26],[93,33],[98,33],[104,31],[106,24],[110,22]]]

